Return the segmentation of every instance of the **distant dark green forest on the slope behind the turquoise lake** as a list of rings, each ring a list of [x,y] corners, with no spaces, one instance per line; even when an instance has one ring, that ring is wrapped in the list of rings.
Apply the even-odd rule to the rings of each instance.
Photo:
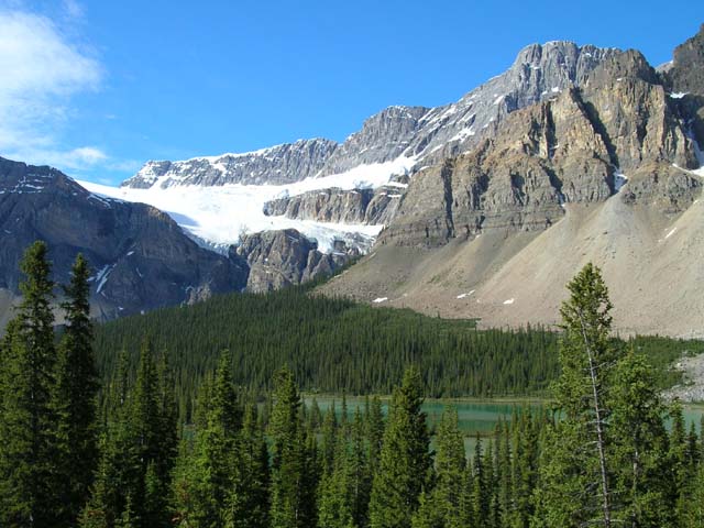
[[[542,328],[480,331],[472,321],[309,294],[296,287],[218,296],[101,324],[99,369],[108,382],[120,351],[136,361],[148,336],[155,350],[168,354],[184,420],[190,420],[197,387],[221,350],[232,351],[234,383],[254,393],[270,392],[283,365],[306,392],[365,395],[391,394],[416,364],[426,394],[437,398],[544,395],[559,373],[559,336]],[[685,351],[704,352],[700,341],[635,338],[630,344],[657,367],[660,387],[679,381],[668,370],[671,362]]]

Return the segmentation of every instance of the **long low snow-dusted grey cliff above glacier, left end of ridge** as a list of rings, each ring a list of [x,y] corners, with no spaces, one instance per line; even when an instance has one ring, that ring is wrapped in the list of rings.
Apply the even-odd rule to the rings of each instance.
[[[337,147],[338,144],[330,140],[299,140],[244,154],[148,162],[122,186],[150,188],[162,177],[165,178],[160,184],[163,188],[173,185],[290,184],[316,176]]]

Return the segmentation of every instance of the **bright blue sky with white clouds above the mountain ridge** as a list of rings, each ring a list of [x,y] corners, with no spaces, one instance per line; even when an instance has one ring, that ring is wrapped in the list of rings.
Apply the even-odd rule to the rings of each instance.
[[[702,22],[701,0],[0,0],[0,156],[119,183],[147,160],[342,141],[389,105],[459,99],[530,43],[658,65]]]

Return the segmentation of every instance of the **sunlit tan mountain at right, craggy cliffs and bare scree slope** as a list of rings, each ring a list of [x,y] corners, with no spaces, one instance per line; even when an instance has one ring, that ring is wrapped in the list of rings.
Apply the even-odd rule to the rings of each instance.
[[[324,292],[487,326],[552,323],[591,261],[619,331],[702,336],[703,35],[660,73],[614,54],[419,170],[372,253]]]

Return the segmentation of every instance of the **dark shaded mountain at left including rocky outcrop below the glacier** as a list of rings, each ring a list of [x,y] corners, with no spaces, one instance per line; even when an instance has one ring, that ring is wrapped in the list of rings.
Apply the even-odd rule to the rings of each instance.
[[[201,248],[161,210],[98,196],[55,168],[0,158],[0,322],[11,315],[28,245],[50,246],[54,277],[66,284],[78,252],[95,271],[94,315],[109,319],[212,294],[266,292],[330,274],[352,251],[330,254],[297,231],[249,235],[226,254]],[[58,293],[58,292],[57,292]]]

